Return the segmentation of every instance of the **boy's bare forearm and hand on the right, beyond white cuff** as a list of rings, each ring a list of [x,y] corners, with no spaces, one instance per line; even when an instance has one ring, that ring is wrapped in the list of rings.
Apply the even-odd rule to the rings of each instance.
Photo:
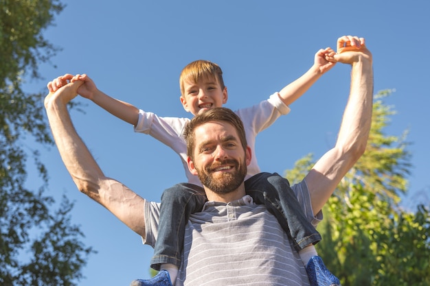
[[[333,56],[335,51],[330,48],[320,49],[315,53],[314,64],[304,75],[288,84],[280,91],[282,102],[290,106],[296,99],[301,97],[312,86],[321,75],[330,70],[336,63],[326,60],[326,56]]]

